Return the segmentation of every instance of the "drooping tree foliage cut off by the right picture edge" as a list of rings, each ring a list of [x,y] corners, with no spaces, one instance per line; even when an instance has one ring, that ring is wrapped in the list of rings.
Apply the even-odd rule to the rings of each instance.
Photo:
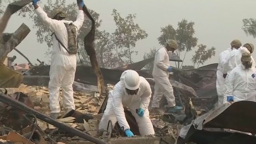
[[[256,19],[254,18],[250,18],[250,19],[243,19],[243,27],[242,30],[244,30],[244,32],[247,35],[251,35],[254,38],[256,38]]]

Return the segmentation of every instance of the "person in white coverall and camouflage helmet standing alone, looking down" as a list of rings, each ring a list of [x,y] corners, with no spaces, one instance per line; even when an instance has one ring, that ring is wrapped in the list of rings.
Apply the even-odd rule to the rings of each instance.
[[[182,107],[176,106],[175,104],[173,87],[169,81],[169,73],[172,72],[172,67],[170,67],[168,52],[174,52],[177,47],[177,42],[170,40],[167,42],[166,46],[159,49],[155,55],[155,63],[152,72],[155,80],[155,92],[151,105],[151,111],[153,113],[158,111],[159,102],[163,95],[168,103],[168,112],[174,113],[182,110]]]

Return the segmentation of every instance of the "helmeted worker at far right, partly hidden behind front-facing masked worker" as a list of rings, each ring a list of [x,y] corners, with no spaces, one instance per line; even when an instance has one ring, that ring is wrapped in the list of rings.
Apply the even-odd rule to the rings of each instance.
[[[254,51],[254,45],[252,43],[246,43],[243,46],[241,46],[237,51],[234,51],[234,54],[232,52],[232,56],[230,57],[229,65],[233,69],[237,67],[239,64],[242,64],[241,58],[242,58],[242,53],[247,52],[247,53],[252,53]],[[251,56],[251,63],[252,63],[252,68],[255,68],[255,61],[254,58]]]

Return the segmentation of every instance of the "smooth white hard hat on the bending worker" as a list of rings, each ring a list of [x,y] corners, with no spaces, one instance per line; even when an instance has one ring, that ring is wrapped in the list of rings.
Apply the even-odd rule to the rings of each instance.
[[[126,89],[136,90],[139,89],[139,74],[134,70],[127,70],[124,76],[124,83]]]

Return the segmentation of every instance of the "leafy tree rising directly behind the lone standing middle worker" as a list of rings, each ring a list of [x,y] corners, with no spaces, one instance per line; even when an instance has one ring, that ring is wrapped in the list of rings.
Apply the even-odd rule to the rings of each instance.
[[[190,52],[192,48],[197,45],[197,38],[194,37],[194,22],[188,22],[188,20],[181,20],[178,22],[178,28],[175,30],[172,25],[161,28],[161,36],[158,37],[159,44],[166,45],[170,39],[174,39],[178,43],[177,55],[180,56],[181,52],[185,51],[183,62],[186,57],[186,53]],[[182,67],[183,62],[180,67]]]

